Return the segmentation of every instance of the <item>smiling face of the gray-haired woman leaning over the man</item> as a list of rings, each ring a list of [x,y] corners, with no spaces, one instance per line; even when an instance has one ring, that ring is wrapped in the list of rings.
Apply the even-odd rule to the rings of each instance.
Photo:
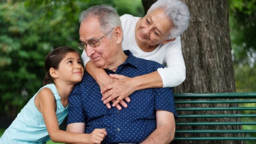
[[[136,39],[139,42],[154,46],[167,40],[172,22],[161,8],[146,14],[138,23]]]

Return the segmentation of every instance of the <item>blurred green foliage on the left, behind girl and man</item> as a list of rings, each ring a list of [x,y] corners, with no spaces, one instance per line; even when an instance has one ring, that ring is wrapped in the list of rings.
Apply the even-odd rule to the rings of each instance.
[[[97,4],[143,16],[141,0],[0,1],[0,112],[16,117],[42,87],[48,52],[59,46],[80,51],[78,16]]]

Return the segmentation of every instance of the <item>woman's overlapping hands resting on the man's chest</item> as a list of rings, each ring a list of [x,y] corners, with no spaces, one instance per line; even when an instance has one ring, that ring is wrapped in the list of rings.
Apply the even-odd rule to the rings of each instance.
[[[125,99],[126,102],[130,102],[128,96],[136,91],[135,84],[132,82],[132,78],[123,75],[110,74],[110,77],[117,80],[114,80],[114,82],[101,89],[103,103],[107,104],[114,100],[112,106],[117,106],[119,103],[124,106],[126,103],[123,99]]]

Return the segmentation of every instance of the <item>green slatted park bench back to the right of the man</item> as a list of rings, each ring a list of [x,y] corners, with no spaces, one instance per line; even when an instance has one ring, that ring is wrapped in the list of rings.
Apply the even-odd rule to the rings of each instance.
[[[256,130],[234,128],[239,126],[256,125],[256,107],[240,107],[238,104],[256,103],[256,92],[252,93],[184,93],[174,94],[178,120],[176,120],[175,141],[180,140],[256,140],[248,136],[256,134]],[[222,107],[228,104],[229,107]],[[254,114],[240,114],[241,111],[251,110]],[[188,112],[190,111],[190,112]],[[238,113],[236,113],[236,112]],[[195,113],[196,114],[193,114]],[[212,114],[213,113],[213,114]],[[235,118],[238,121],[230,120]],[[255,118],[241,122],[241,118]],[[215,121],[212,121],[214,119]],[[218,120],[219,119],[219,120]],[[229,121],[225,121],[225,119]],[[200,121],[202,120],[202,121]],[[251,122],[250,122],[251,121]],[[203,129],[204,126],[208,129]],[[214,126],[218,128],[214,129]],[[213,128],[213,129],[209,129]],[[195,129],[200,128],[200,129]],[[234,128],[234,129],[230,129]],[[195,136],[193,136],[193,134]],[[198,136],[200,135],[201,136]],[[207,136],[202,136],[208,134]],[[230,134],[232,136],[216,136]],[[240,134],[239,136],[234,136]],[[247,135],[246,135],[247,134]],[[177,136],[178,135],[178,136]],[[181,136],[182,135],[182,136]]]

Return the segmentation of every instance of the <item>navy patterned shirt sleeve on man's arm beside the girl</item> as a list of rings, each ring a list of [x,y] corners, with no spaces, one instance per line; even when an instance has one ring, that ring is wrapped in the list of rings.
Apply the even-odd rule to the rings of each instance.
[[[67,124],[76,122],[85,122],[85,113],[82,105],[80,93],[80,84],[77,84],[68,97],[68,122]]]

